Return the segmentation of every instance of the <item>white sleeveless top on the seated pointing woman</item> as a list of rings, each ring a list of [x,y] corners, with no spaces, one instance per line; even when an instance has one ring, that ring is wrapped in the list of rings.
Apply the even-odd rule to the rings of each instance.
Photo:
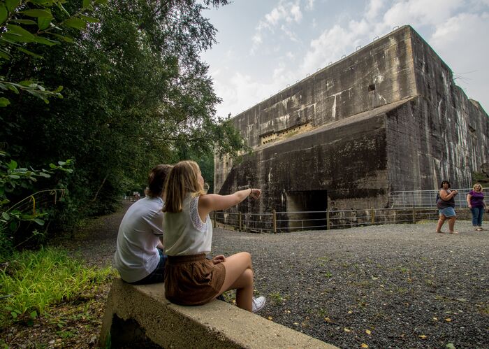
[[[212,224],[209,215],[205,222],[200,219],[198,199],[188,194],[181,212],[166,212],[163,215],[163,247],[166,255],[186,256],[210,252]]]

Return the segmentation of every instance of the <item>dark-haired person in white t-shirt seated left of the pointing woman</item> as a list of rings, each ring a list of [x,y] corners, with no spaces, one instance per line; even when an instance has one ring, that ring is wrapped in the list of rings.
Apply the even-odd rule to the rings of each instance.
[[[163,254],[163,185],[173,166],[159,164],[148,176],[147,196],[129,207],[117,234],[115,268],[126,283],[162,283],[166,255]]]

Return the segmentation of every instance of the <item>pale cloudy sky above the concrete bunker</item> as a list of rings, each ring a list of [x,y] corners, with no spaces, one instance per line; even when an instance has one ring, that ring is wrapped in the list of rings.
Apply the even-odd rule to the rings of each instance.
[[[217,44],[203,52],[222,103],[238,115],[358,46],[410,24],[489,113],[489,0],[233,0],[203,12]]]

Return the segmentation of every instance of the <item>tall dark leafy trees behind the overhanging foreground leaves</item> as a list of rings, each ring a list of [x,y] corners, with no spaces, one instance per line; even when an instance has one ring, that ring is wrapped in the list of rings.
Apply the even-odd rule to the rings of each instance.
[[[43,59],[17,52],[0,66],[10,81],[35,72],[64,87],[63,99],[39,104],[24,95],[0,115],[0,139],[23,166],[73,159],[64,222],[112,211],[119,194],[144,187],[155,164],[242,149],[231,122],[214,117],[220,100],[199,57],[215,42],[201,11],[226,3],[109,1],[86,30],[66,29],[75,43],[36,48]],[[75,3],[64,6],[76,13]]]

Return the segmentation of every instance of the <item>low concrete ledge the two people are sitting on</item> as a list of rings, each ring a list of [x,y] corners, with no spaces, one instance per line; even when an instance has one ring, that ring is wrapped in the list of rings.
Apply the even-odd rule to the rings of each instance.
[[[163,284],[112,284],[99,339],[101,347],[336,348],[224,301],[177,306]]]

